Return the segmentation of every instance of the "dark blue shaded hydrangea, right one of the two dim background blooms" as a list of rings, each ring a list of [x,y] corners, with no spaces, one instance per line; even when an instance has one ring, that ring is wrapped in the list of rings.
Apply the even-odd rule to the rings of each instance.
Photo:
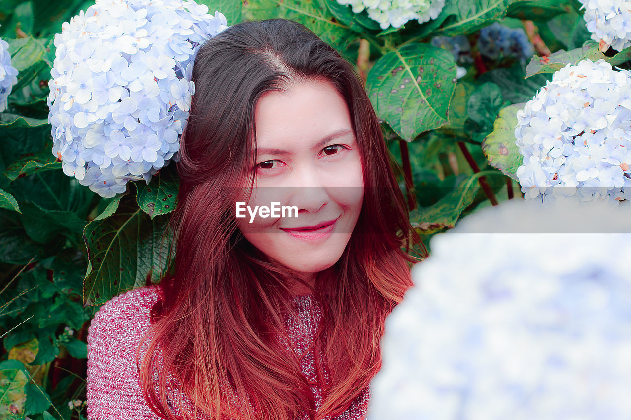
[[[480,30],[477,46],[480,54],[493,60],[508,57],[526,60],[534,54],[533,44],[523,28],[509,28],[497,22]]]

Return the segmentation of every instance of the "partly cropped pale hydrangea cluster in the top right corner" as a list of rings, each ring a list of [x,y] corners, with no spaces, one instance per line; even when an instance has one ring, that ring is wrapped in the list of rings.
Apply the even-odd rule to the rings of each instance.
[[[583,19],[600,50],[631,47],[631,2],[628,0],[579,0]]]

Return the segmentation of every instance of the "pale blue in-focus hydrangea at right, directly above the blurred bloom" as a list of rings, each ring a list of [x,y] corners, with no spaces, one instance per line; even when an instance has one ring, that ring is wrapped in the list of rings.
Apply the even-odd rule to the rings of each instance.
[[[631,198],[631,76],[603,59],[563,67],[517,111],[517,178],[542,204]],[[628,204],[628,201],[625,201]]]

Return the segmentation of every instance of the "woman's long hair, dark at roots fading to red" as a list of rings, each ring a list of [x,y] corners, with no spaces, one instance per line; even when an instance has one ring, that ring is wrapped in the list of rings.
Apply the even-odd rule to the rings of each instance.
[[[152,339],[148,334],[141,341],[149,342],[139,366],[144,397],[166,419],[196,418],[198,412],[185,407],[184,417],[170,411],[164,374],[170,372],[196,410],[212,420],[295,420],[303,411],[312,420],[336,416],[379,371],[384,320],[412,285],[410,266],[418,261],[410,240],[414,245],[420,238],[408,220],[379,120],[354,67],[290,20],[230,26],[201,46],[192,79],[195,94],[177,161],[180,189],[168,222],[174,271],[159,284]],[[329,81],[345,99],[365,185],[348,245],[310,288],[322,303],[315,346],[324,349],[330,377],[328,386],[322,381],[317,411],[297,360],[275,338],[286,334],[283,313],[291,310],[296,279],[240,234],[230,212],[236,197],[227,188],[235,179],[251,180],[257,100],[314,79]],[[154,376],[155,370],[162,373]],[[321,366],[317,370],[322,378]],[[232,392],[240,397],[228,397]]]

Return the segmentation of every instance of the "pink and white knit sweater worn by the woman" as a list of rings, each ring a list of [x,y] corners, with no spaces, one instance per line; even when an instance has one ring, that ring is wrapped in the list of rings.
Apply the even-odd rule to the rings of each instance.
[[[86,390],[88,420],[163,420],[151,411],[143,397],[134,359],[141,337],[150,328],[151,306],[158,299],[156,285],[136,288],[107,301],[91,320]],[[322,308],[312,295],[296,296],[292,303],[297,308],[298,317],[285,317],[285,326],[292,341],[285,345],[290,346],[302,360],[300,369],[310,383],[315,405],[319,408],[322,386],[317,382],[314,351],[309,349],[309,344],[319,328]],[[146,351],[146,345],[141,348],[141,356],[145,354],[143,350]],[[319,358],[322,360],[321,351]],[[154,373],[154,378],[157,378],[156,375]],[[328,380],[326,369],[324,376]],[[177,381],[170,378],[172,376],[167,376],[168,401],[169,390],[179,395]],[[192,407],[191,400],[183,393],[181,395],[187,407]],[[345,412],[336,417],[329,416],[327,420],[368,420],[365,413],[369,397],[369,387],[365,387]],[[177,407],[169,406],[176,415],[179,414]],[[297,420],[303,419],[307,419],[306,412]]]

